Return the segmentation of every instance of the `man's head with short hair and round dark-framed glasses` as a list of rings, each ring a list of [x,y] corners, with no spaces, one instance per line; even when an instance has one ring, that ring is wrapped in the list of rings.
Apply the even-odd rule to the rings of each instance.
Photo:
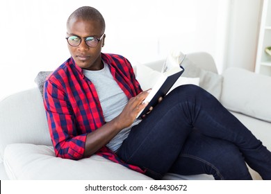
[[[89,70],[99,70],[101,47],[104,46],[106,24],[95,8],[84,6],[75,10],[67,19],[69,53],[76,64]]]

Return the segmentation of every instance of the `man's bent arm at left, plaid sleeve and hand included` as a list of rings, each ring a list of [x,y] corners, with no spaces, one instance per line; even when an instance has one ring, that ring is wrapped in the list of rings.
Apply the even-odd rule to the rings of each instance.
[[[47,112],[49,131],[57,157],[81,159],[89,157],[106,145],[113,137],[131,125],[147,96],[143,91],[129,100],[122,113],[94,132],[77,135],[75,116],[71,105],[56,85],[47,81],[44,85],[44,107]]]

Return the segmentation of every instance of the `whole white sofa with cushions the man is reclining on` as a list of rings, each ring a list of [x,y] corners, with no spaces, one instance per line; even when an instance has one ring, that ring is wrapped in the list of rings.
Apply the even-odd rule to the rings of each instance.
[[[162,64],[161,60],[145,65],[159,70]],[[270,77],[244,69],[227,69],[217,75],[215,62],[208,53],[188,54],[183,66],[183,78],[199,78],[199,85],[218,98],[271,150]],[[38,87],[0,102],[0,155],[0,179],[150,179],[97,155],[79,161],[56,158]],[[253,170],[251,173],[254,179],[261,179]],[[213,177],[169,174],[164,179]]]

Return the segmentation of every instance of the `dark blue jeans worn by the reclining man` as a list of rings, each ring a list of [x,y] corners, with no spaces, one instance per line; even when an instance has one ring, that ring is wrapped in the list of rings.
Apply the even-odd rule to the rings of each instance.
[[[271,179],[271,152],[215,97],[194,85],[165,96],[132,128],[117,155],[154,179],[165,173],[252,179],[246,163]]]

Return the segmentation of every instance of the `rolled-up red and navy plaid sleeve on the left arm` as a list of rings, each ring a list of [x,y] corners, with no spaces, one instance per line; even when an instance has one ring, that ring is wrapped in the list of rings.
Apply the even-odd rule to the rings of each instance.
[[[87,134],[77,134],[69,100],[63,89],[50,80],[44,83],[44,108],[56,157],[83,158]]]

